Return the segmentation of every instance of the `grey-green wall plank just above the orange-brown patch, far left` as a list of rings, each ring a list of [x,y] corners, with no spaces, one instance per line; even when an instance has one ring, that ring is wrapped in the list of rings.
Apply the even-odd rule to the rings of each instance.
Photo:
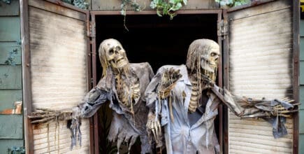
[[[22,101],[22,90],[0,90],[0,111],[14,109],[17,101]]]

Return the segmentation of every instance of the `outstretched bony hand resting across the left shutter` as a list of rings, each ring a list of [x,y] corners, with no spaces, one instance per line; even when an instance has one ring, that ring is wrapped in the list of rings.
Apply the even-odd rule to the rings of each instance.
[[[50,123],[57,120],[72,119],[71,110],[52,110],[52,109],[36,109],[38,112],[32,112],[28,118],[31,123]]]

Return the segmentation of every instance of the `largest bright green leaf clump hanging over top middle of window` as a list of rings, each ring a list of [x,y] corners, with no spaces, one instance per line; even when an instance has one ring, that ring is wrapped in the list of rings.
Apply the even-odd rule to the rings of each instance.
[[[180,10],[183,5],[187,5],[187,0],[152,0],[150,7],[157,10],[157,15],[169,15],[172,20],[175,17],[175,11]]]

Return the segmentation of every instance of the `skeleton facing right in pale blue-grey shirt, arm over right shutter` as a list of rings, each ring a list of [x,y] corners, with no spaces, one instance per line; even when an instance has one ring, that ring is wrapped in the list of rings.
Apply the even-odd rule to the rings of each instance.
[[[162,66],[152,78],[145,92],[147,130],[157,147],[165,139],[167,153],[219,153],[214,120],[221,102],[242,118],[294,112],[289,100],[239,99],[247,105],[241,107],[229,91],[215,85],[218,58],[215,41],[198,39],[189,46],[186,66]]]

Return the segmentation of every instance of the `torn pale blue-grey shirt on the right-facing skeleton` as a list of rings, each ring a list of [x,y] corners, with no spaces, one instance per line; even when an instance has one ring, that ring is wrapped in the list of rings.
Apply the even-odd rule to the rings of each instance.
[[[179,78],[171,95],[173,96],[173,117],[171,120],[168,101],[159,102],[156,88],[161,81],[161,75],[166,69],[180,69],[182,78]],[[183,93],[186,95],[183,96]],[[145,92],[147,106],[155,109],[157,116],[161,116],[161,126],[164,127],[166,150],[168,154],[174,153],[219,153],[219,144],[215,134],[214,120],[217,116],[219,100],[215,94],[208,94],[209,99],[205,106],[205,113],[193,125],[188,118],[188,106],[191,97],[191,83],[187,68],[184,65],[162,66],[152,78]]]

